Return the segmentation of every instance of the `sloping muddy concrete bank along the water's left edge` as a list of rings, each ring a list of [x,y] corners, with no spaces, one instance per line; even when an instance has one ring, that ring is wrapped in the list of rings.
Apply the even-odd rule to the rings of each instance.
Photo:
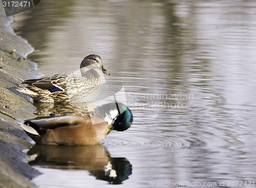
[[[39,172],[26,163],[24,150],[31,147],[30,138],[19,122],[33,117],[35,106],[16,91],[24,79],[38,77],[35,64],[26,59],[33,47],[17,36],[0,5],[0,187],[34,187],[30,180]]]

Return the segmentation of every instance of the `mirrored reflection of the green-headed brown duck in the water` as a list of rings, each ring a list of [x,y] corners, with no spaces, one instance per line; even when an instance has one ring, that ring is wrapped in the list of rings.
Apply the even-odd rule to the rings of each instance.
[[[88,146],[34,145],[28,152],[31,166],[62,170],[87,170],[96,179],[120,184],[132,174],[124,157],[114,158],[101,144]]]

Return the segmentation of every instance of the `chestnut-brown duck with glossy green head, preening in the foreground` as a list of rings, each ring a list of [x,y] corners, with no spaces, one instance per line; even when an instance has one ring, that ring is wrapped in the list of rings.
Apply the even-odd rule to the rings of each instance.
[[[123,131],[133,122],[133,115],[124,104],[112,102],[100,106],[88,116],[60,116],[27,120],[20,124],[37,144],[99,144],[111,130]]]

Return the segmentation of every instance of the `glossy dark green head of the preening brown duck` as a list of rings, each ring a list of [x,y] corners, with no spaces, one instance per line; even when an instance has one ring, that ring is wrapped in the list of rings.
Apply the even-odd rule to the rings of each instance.
[[[118,113],[110,125],[110,130],[124,131],[131,127],[133,123],[133,114],[123,103],[115,102],[115,104],[117,106]]]

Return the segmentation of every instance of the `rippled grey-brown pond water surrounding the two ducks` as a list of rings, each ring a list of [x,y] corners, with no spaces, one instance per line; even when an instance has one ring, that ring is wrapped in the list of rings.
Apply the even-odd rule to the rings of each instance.
[[[45,0],[16,15],[15,31],[39,50],[29,58],[40,72],[73,72],[96,53],[109,89],[124,86],[134,115],[130,129],[100,146],[39,148],[34,165],[44,174],[33,182],[256,186],[255,13],[255,1]],[[113,158],[124,169],[120,185],[99,175]]]

